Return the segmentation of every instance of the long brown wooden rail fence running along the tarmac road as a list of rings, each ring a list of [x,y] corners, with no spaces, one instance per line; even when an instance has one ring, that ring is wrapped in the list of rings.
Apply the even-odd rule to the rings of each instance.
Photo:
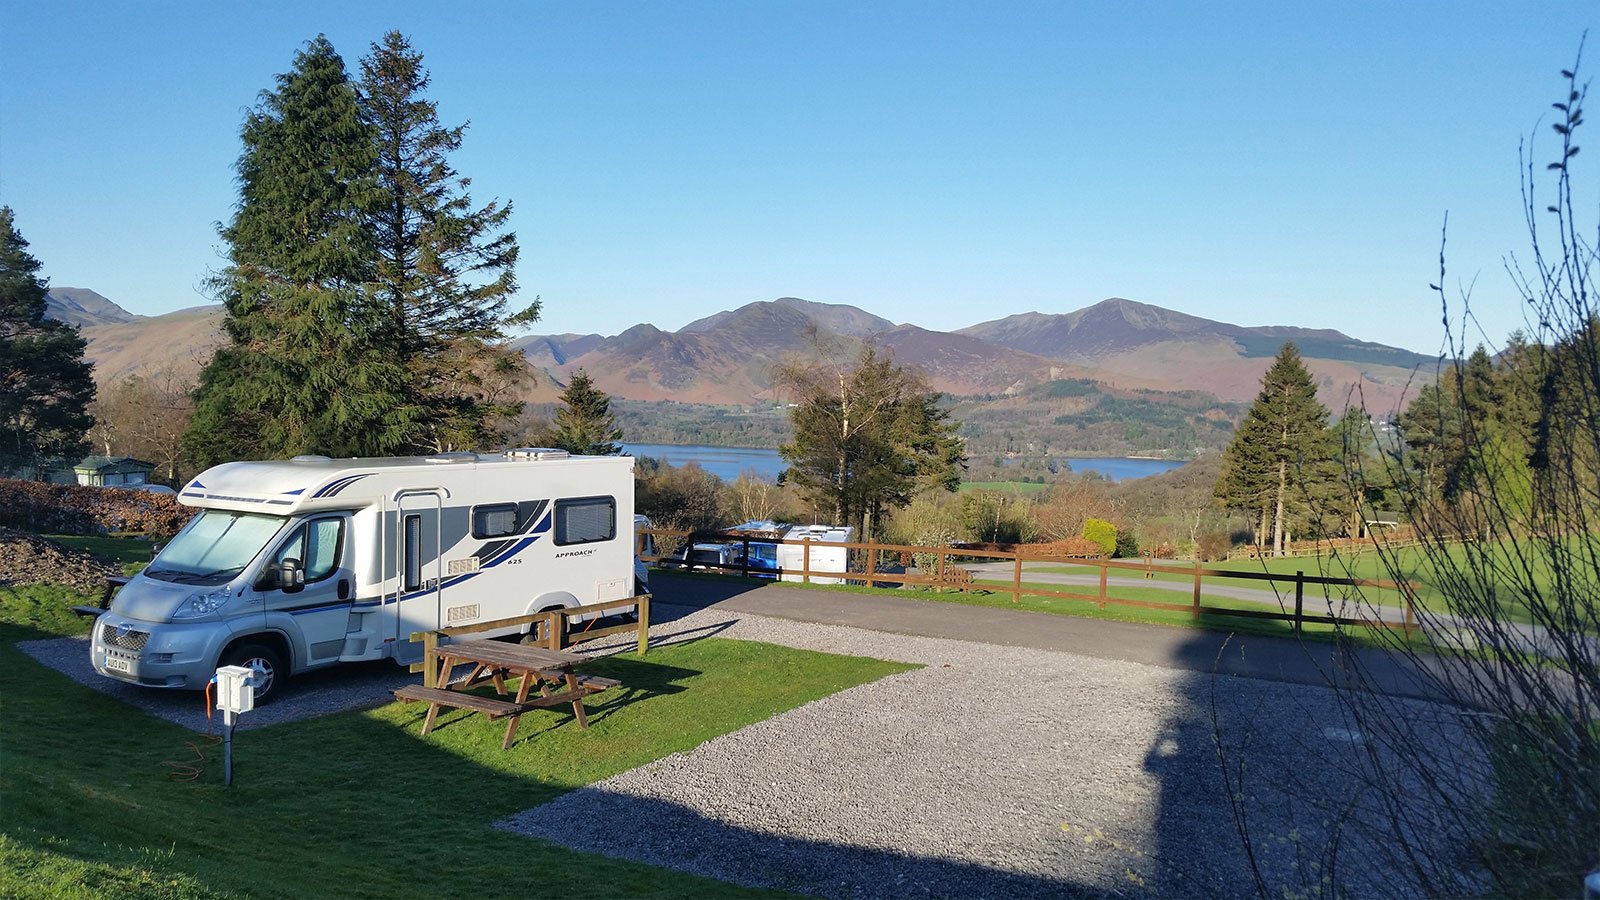
[[[1192,567],[1187,565],[1171,565],[1157,564],[1154,559],[1146,557],[1142,562],[1134,560],[1118,560],[1118,559],[1082,559],[1067,556],[1046,556],[1037,552],[1027,552],[1021,549],[1003,551],[1003,549],[970,549],[970,548],[936,548],[936,546],[909,546],[909,544],[888,544],[877,541],[810,541],[810,540],[776,540],[763,536],[750,536],[738,532],[685,532],[672,528],[645,528],[640,532],[653,533],[658,538],[677,538],[683,540],[686,546],[693,548],[694,543],[722,543],[739,546],[741,552],[736,556],[736,562],[706,562],[685,559],[677,560],[667,556],[642,556],[646,562],[666,562],[670,565],[683,565],[686,569],[699,569],[706,572],[720,572],[731,575],[742,575],[746,578],[754,577],[781,577],[786,581],[798,580],[802,583],[810,583],[813,578],[838,580],[843,578],[853,585],[866,586],[890,586],[890,585],[912,585],[920,588],[939,588],[939,589],[955,589],[955,591],[978,591],[978,593],[1008,593],[1011,594],[1013,604],[1021,604],[1024,596],[1029,597],[1058,597],[1067,601],[1086,601],[1099,604],[1101,609],[1107,605],[1128,605],[1157,610],[1174,610],[1187,612],[1194,618],[1205,615],[1216,617],[1237,617],[1237,618],[1259,618],[1259,620],[1278,620],[1293,625],[1294,631],[1299,633],[1304,625],[1338,625],[1338,626],[1368,626],[1368,628],[1400,628],[1410,636],[1411,629],[1416,628],[1416,610],[1414,610],[1414,586],[1403,581],[1386,581],[1373,578],[1333,578],[1326,575],[1307,575],[1306,572],[1274,573],[1274,572],[1232,572],[1226,569],[1206,569],[1203,564],[1195,560]],[[643,541],[640,541],[643,546]],[[750,544],[792,544],[800,546],[800,567],[794,569],[771,569],[765,565],[750,565]],[[845,548],[854,565],[850,565],[846,572],[813,569],[811,565],[811,549],[813,548]],[[885,559],[893,559],[901,567],[909,567],[912,559],[928,560],[933,557],[934,565],[931,572],[918,570],[915,575],[909,572],[885,570]],[[995,583],[995,580],[978,581],[978,577],[962,564],[971,562],[1010,562],[1010,585],[1003,586]],[[1026,562],[1053,562],[1059,565],[1070,567],[1090,567],[1099,570],[1099,586],[1094,593],[1085,591],[1058,591],[1050,586],[1038,583],[1026,585],[1022,583],[1022,564]],[[894,569],[894,564],[890,564]],[[1189,602],[1162,602],[1162,601],[1144,601],[1134,597],[1118,597],[1109,585],[1110,572],[1136,572],[1146,580],[1154,580],[1155,575],[1170,575],[1190,580],[1189,586]],[[1205,580],[1237,580],[1237,581],[1267,581],[1272,585],[1291,585],[1293,586],[1293,609],[1290,609],[1290,601],[1286,596],[1278,596],[1280,609],[1235,609],[1235,607],[1219,607],[1210,605],[1202,601]],[[1403,618],[1400,621],[1389,621],[1373,617],[1339,617],[1339,615],[1322,615],[1315,612],[1306,612],[1306,586],[1330,586],[1330,588],[1374,588],[1381,591],[1398,591]],[[1275,591],[1275,588],[1274,588]]]

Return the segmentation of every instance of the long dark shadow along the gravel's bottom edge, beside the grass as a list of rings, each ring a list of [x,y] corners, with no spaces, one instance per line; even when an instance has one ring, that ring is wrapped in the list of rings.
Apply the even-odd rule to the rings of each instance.
[[[566,804],[582,820],[565,815]],[[842,807],[842,815],[848,812]],[[626,841],[616,825],[630,823]],[[586,823],[597,823],[590,828]],[[1104,897],[1074,881],[1040,878],[894,850],[850,847],[736,828],[680,804],[581,788],[496,823],[499,828],[616,858],[749,887],[813,897]],[[893,844],[893,834],[883,834]]]

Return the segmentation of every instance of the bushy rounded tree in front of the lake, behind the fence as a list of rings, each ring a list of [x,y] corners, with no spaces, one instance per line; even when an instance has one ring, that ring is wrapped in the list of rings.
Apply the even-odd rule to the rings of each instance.
[[[923,490],[955,490],[965,466],[957,424],[926,380],[872,346],[848,364],[795,362],[779,370],[794,397],[795,436],[779,452],[786,479],[835,524],[872,522]]]

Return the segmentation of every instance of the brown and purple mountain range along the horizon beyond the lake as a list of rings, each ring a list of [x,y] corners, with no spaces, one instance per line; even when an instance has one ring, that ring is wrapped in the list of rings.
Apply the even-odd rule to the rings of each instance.
[[[51,288],[50,315],[80,327],[102,381],[160,365],[197,372],[221,341],[221,306],[144,317],[91,290]],[[1278,348],[1294,341],[1330,408],[1344,408],[1358,392],[1368,410],[1387,413],[1435,365],[1434,357],[1333,330],[1230,325],[1122,298],[957,331],[894,323],[854,306],[779,298],[717,312],[677,331],[638,323],[611,336],[531,335],[514,346],[549,375],[533,400],[549,399],[584,368],[598,388],[629,400],[750,405],[774,399],[771,367],[819,335],[874,341],[957,397],[1096,381],[1125,391],[1198,391],[1248,402]]]

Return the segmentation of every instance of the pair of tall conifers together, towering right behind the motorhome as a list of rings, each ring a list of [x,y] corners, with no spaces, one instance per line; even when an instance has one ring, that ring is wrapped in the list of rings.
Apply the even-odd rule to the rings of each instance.
[[[227,344],[200,376],[184,448],[200,466],[376,456],[498,440],[525,378],[504,328],[515,290],[509,205],[474,207],[398,34],[360,91],[326,37],[245,120],[240,199],[213,287]]]

